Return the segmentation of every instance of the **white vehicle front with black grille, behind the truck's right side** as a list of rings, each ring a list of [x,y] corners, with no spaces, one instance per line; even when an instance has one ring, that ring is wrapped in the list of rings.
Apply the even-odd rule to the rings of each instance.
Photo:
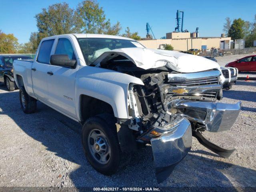
[[[220,67],[225,81],[223,83],[223,88],[229,90],[232,88],[232,85],[236,84],[238,69],[233,67]]]

